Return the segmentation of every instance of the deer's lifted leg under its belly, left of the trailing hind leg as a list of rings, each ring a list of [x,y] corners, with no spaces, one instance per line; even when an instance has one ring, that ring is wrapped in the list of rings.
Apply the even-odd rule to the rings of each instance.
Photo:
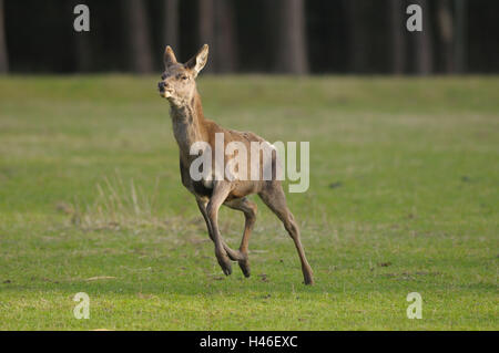
[[[237,253],[236,260],[240,264],[241,270],[245,277],[249,277],[249,260],[247,256],[247,248],[249,242],[249,237],[253,230],[253,226],[256,221],[256,204],[248,200],[247,198],[237,198],[224,203],[225,206],[233,209],[237,209],[244,212],[244,232],[243,239],[241,240],[240,251]],[[228,255],[231,257],[231,255]]]

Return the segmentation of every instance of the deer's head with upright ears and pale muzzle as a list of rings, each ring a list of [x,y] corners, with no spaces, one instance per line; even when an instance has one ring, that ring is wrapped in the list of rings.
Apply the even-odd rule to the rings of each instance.
[[[182,64],[167,45],[164,51],[164,72],[157,83],[160,95],[176,106],[189,104],[196,92],[195,79],[206,64],[207,54],[208,46],[204,44],[197,54]]]

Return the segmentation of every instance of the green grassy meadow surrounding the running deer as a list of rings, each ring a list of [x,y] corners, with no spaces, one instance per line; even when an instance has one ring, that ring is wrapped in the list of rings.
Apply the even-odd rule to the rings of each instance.
[[[156,80],[0,80],[0,330],[499,329],[498,77],[200,79],[222,125],[310,142],[314,287],[259,201],[253,276],[222,274]]]

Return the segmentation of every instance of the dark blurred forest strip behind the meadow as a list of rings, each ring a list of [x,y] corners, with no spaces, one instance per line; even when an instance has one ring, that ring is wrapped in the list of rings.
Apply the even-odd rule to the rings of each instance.
[[[73,7],[90,7],[90,32]],[[422,7],[424,31],[406,30]],[[499,72],[496,0],[0,0],[0,72],[162,70],[211,46],[212,73]]]

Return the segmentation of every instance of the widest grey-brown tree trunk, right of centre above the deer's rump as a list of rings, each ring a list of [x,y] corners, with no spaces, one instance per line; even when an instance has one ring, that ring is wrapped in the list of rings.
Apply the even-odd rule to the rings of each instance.
[[[279,0],[278,4],[276,8],[276,70],[285,73],[306,74],[308,60],[304,1]]]

